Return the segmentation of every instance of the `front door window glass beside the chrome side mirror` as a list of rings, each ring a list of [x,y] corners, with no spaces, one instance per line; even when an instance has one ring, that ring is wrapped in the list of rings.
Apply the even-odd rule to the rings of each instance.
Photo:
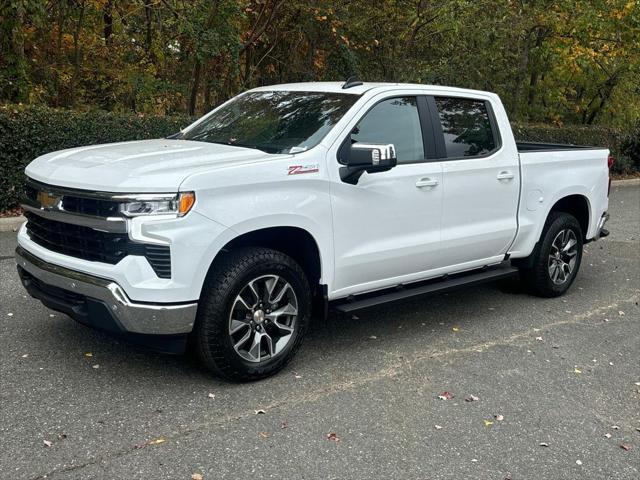
[[[390,98],[375,105],[351,133],[351,141],[393,143],[398,163],[424,159],[415,97]]]

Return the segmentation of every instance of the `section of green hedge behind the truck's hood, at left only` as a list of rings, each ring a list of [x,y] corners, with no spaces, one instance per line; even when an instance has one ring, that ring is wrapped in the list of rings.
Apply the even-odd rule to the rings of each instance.
[[[24,168],[40,155],[97,143],[162,138],[192,121],[188,117],[0,106],[0,212],[17,204]]]

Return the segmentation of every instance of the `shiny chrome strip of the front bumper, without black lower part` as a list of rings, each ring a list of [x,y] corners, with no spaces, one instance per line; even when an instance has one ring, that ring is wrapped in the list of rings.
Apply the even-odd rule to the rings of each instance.
[[[147,304],[129,299],[113,280],[88,275],[46,262],[24,248],[16,249],[16,262],[41,282],[104,302],[122,327],[131,333],[174,335],[193,330],[197,302]]]

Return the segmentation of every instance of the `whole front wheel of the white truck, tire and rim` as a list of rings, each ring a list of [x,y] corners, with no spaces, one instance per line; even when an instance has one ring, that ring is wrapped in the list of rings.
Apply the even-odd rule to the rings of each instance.
[[[203,288],[194,332],[198,355],[230,380],[267,377],[293,358],[310,313],[309,284],[293,259],[267,248],[232,251]]]

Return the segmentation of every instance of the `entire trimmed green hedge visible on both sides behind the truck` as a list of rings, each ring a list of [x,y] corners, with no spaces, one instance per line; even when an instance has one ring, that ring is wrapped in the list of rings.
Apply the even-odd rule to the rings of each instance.
[[[17,204],[24,184],[24,167],[40,155],[82,145],[162,138],[192,120],[188,117],[0,106],[0,212]],[[517,140],[608,147],[616,157],[614,172],[640,171],[640,124],[626,134],[599,126],[556,127],[522,123],[512,126]]]

